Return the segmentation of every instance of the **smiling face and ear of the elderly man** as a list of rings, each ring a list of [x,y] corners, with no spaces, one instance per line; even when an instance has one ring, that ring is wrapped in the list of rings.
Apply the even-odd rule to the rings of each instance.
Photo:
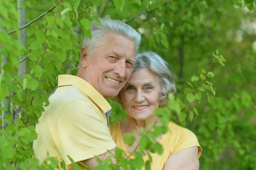
[[[134,42],[120,35],[108,34],[92,55],[86,51],[81,50],[84,79],[105,98],[118,95],[131,76],[136,55]],[[84,52],[86,57],[82,57]]]

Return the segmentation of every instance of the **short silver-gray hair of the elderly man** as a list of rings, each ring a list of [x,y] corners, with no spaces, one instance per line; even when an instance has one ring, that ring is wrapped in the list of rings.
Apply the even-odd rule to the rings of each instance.
[[[95,21],[91,23],[91,40],[84,35],[83,47],[86,47],[90,54],[93,54],[96,48],[104,43],[105,35],[108,33],[122,35],[132,40],[136,47],[136,53],[139,52],[141,35],[135,29],[120,20],[111,20],[109,18],[99,18],[99,20],[99,25]],[[80,66],[81,64],[79,62],[78,69]]]

